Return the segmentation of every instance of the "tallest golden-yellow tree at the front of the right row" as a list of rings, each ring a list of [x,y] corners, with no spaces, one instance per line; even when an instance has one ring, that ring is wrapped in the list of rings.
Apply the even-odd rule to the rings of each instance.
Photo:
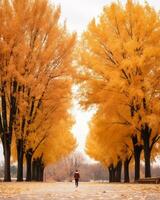
[[[99,20],[89,24],[79,58],[82,101],[103,105],[114,93],[112,100],[119,99],[118,107],[127,107],[125,116],[129,118],[120,114],[132,127],[135,160],[143,145],[146,177],[151,176],[151,151],[159,139],[159,109],[153,109],[159,94],[155,95],[151,84],[159,68],[159,36],[159,15],[148,4],[113,3],[104,7]]]

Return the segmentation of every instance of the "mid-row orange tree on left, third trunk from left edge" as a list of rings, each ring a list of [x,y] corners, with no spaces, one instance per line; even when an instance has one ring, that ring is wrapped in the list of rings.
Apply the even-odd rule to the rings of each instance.
[[[62,88],[64,89],[66,87],[62,87]],[[56,90],[54,90],[54,92],[55,91]],[[53,140],[55,140],[55,142],[57,142],[58,144],[60,142],[54,137],[54,131],[52,131],[54,130],[54,126],[57,128],[57,125],[59,124],[63,125],[62,123],[60,123],[62,120],[66,120],[66,132],[67,132],[67,128],[69,132],[70,126],[72,125],[69,120],[70,115],[68,114],[71,98],[69,98],[69,96],[66,96],[65,94],[66,91],[62,90],[62,92],[63,94],[60,93],[60,88],[59,88],[58,93],[53,93],[54,97],[50,99],[50,103],[47,100],[46,108],[44,105],[45,103],[43,104],[44,107],[43,107],[42,112],[40,113],[40,116],[38,116],[37,119],[35,120],[35,123],[32,124],[32,126],[30,127],[28,131],[28,134],[25,135],[25,138],[24,138],[25,146],[23,147],[23,149],[25,150],[27,169],[28,169],[26,177],[27,177],[27,180],[29,181],[31,180],[32,157],[34,156],[35,152],[38,150],[39,146],[43,142],[45,142],[45,140],[48,140],[48,137],[49,138],[53,137]],[[58,101],[54,102],[54,99],[57,98],[56,94],[58,94],[57,100],[59,100],[59,102]],[[68,123],[70,122],[70,126],[69,125],[67,126],[68,124],[67,122]],[[58,126],[59,130],[61,130],[60,125]],[[63,127],[62,127],[62,130],[63,130]],[[60,131],[59,131],[59,134],[60,134]]]

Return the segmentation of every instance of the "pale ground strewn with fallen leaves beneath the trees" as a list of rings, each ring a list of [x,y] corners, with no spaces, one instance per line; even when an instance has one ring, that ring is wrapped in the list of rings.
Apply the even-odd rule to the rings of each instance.
[[[6,200],[160,200],[160,185],[80,183],[0,183]]]

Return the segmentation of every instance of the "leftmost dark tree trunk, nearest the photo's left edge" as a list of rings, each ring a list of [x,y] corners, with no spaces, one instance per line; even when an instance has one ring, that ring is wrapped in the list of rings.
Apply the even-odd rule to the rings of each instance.
[[[10,157],[11,157],[11,146],[9,142],[9,138],[4,136],[4,181],[11,181],[10,174]]]

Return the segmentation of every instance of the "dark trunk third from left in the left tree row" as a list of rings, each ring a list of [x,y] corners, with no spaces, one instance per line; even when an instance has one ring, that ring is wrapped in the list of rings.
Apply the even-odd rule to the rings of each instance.
[[[27,173],[26,173],[26,181],[32,180],[32,149],[28,149],[26,152],[26,163],[27,163]]]

